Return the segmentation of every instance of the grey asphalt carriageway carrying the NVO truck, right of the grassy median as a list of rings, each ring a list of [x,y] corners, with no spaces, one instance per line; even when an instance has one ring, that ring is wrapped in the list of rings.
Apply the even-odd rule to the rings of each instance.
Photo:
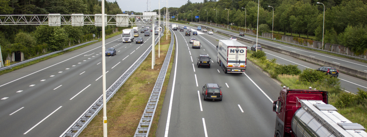
[[[170,22],[171,24],[175,24]],[[178,24],[183,28],[182,24]],[[196,28],[192,31],[197,31]],[[185,30],[186,31],[186,30]],[[272,101],[277,100],[281,87],[261,70],[248,63],[245,74],[225,74],[217,63],[216,39],[228,39],[214,33],[185,36],[185,31],[174,31],[177,39],[174,64],[158,123],[157,136],[260,136],[274,135],[275,114]],[[191,37],[201,43],[192,49]],[[239,41],[246,46],[251,44]],[[289,56],[263,49],[269,59],[277,58],[279,64],[298,64],[300,69],[319,68]],[[196,57],[207,54],[211,68],[197,68]],[[366,81],[339,74],[345,90],[356,92],[366,88]],[[203,100],[202,88],[206,83],[222,86],[223,101]]]

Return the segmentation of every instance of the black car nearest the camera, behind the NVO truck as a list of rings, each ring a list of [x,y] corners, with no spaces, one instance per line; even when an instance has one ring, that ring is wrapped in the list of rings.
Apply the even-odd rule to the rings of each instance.
[[[222,87],[218,84],[207,83],[203,87],[204,100],[219,100],[222,101]]]

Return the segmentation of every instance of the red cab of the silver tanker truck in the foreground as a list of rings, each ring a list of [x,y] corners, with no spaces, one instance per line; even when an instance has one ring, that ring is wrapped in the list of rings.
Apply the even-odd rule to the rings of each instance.
[[[294,137],[291,122],[295,111],[301,107],[298,99],[321,100],[328,104],[327,91],[319,90],[296,90],[285,86],[279,92],[279,98],[273,102],[273,111],[276,112],[274,137]]]

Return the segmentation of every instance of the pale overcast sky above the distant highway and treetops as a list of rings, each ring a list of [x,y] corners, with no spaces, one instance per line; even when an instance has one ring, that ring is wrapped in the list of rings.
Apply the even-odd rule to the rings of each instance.
[[[115,0],[108,0],[108,1],[115,1]],[[126,3],[127,0],[116,0],[116,1],[119,4],[122,11],[136,11],[136,12],[146,11],[147,0],[132,0],[132,1],[128,1],[128,3]],[[165,7],[167,3],[166,0],[150,0],[151,10],[158,9],[158,1],[161,2],[161,5],[160,5],[161,8]],[[190,0],[190,1],[192,3],[203,2],[203,0]],[[181,7],[182,5],[185,5],[186,2],[187,0],[169,0],[168,7],[178,8],[178,7]]]

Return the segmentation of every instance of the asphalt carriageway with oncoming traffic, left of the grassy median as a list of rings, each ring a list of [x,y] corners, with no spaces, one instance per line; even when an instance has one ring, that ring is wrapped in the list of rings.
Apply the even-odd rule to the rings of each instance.
[[[122,43],[121,35],[106,39],[106,49],[117,51],[106,57],[107,88],[152,45],[152,32],[145,37],[139,30],[143,44]],[[102,94],[101,45],[1,75],[0,136],[55,137],[69,128]]]

